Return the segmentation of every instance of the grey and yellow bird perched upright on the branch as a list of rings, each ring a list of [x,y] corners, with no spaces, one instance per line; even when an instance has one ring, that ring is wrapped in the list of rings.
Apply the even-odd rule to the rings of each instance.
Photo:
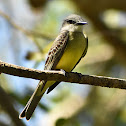
[[[71,72],[86,55],[88,37],[83,33],[87,22],[77,14],[70,14],[62,23],[60,33],[54,40],[45,62],[44,70],[64,70]],[[40,99],[47,91],[51,92],[60,82],[40,80],[19,118],[29,120]]]

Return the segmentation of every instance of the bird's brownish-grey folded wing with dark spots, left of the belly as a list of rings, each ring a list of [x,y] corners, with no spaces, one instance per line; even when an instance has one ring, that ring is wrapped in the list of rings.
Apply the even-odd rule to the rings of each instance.
[[[62,31],[53,42],[45,63],[44,70],[53,70],[63,55],[69,38],[69,31]]]

